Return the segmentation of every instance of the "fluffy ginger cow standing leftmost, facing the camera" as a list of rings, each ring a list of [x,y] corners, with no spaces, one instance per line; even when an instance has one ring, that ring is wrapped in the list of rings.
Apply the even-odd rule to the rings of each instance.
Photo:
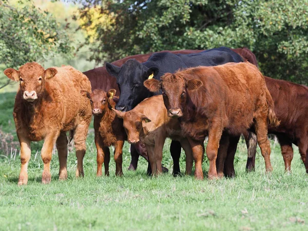
[[[78,160],[76,177],[83,176],[86,137],[91,121],[91,105],[80,91],[91,91],[87,77],[70,66],[44,69],[37,63],[27,63],[17,71],[8,68],[4,73],[20,81],[13,117],[21,144],[21,173],[18,185],[27,184],[27,168],[31,156],[30,142],[44,139],[41,156],[44,162],[42,183],[49,183],[52,148],[59,155],[59,179],[67,178],[67,136],[73,134]]]

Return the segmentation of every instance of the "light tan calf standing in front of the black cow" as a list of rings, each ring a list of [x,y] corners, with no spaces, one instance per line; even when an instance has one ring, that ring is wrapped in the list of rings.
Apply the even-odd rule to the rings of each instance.
[[[123,119],[128,142],[135,144],[141,141],[145,144],[152,175],[157,176],[162,172],[163,147],[167,137],[180,141],[186,153],[186,174],[191,173],[191,147],[182,136],[179,121],[168,117],[162,95],[145,99],[130,111],[114,111]]]

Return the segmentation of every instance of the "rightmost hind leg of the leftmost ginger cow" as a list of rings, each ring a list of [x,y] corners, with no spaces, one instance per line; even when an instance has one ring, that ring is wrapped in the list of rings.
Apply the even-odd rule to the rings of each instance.
[[[86,138],[88,133],[88,127],[89,124],[85,121],[82,121],[76,126],[74,133],[74,144],[77,157],[76,177],[84,176],[83,159],[86,154]]]

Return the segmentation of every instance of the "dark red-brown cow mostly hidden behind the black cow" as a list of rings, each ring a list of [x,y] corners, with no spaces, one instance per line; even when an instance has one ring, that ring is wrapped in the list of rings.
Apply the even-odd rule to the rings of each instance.
[[[174,54],[190,54],[190,53],[199,53],[202,52],[203,50],[176,50],[176,51],[159,51],[160,52],[170,52]],[[129,59],[136,59],[138,62],[145,62],[148,60],[148,58],[152,55],[153,53],[148,53],[148,54],[137,54],[137,55],[132,55],[125,57],[124,59],[115,61],[112,63],[112,65],[117,65],[121,66],[124,64],[127,60]],[[88,79],[91,82],[92,89],[102,89],[104,91],[108,91],[109,89],[115,89],[116,95],[119,95],[120,90],[117,85],[117,79],[114,78],[111,74],[108,73],[106,70],[106,67],[98,67],[94,68],[92,70],[88,70],[83,72]],[[181,150],[178,147],[175,147],[174,145],[170,146],[170,152],[175,153],[175,152],[181,152]],[[130,146],[130,155],[131,155],[131,162],[128,167],[128,170],[136,170],[137,165],[138,165],[138,159],[139,155],[141,155],[143,158],[145,158],[148,161],[147,155],[145,155],[146,151],[144,151],[144,145],[142,144],[136,144],[136,145],[131,145]],[[145,155],[145,156],[144,156]],[[150,165],[149,165],[150,166]],[[148,168],[148,172],[150,172],[151,169],[150,167]],[[164,168],[164,171],[168,171],[167,168]]]

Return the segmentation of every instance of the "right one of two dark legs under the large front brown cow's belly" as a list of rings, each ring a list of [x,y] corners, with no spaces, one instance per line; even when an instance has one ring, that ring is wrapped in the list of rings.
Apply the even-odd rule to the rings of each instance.
[[[227,158],[225,160],[225,165],[224,165],[224,175],[226,177],[235,176],[234,157],[235,157],[235,153],[236,153],[239,140],[240,140],[240,136],[229,137],[229,147],[227,151]]]

